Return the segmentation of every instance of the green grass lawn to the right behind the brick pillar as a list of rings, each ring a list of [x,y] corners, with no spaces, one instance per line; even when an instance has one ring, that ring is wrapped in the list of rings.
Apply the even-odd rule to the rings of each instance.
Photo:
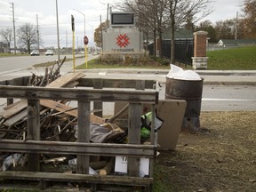
[[[256,46],[207,52],[208,69],[256,70]]]

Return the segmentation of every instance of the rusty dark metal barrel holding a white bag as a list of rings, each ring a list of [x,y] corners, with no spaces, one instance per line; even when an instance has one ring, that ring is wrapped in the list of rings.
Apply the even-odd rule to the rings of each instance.
[[[182,131],[197,132],[200,129],[203,82],[204,79],[181,80],[166,77],[165,100],[187,101],[187,107],[181,125]]]

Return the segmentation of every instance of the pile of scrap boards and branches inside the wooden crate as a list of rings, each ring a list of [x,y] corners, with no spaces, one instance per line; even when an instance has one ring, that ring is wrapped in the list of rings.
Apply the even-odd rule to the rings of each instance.
[[[65,60],[65,59],[64,59]],[[60,67],[64,60],[57,65],[57,69],[46,68],[44,76],[36,76],[33,74],[29,78],[28,86],[42,87],[67,87],[73,88],[78,84],[78,80],[84,76],[84,73],[70,73],[60,76]],[[55,66],[56,67],[56,66]],[[69,100],[40,100],[40,137],[41,140],[49,141],[76,141],[77,127],[77,108],[68,106]],[[28,101],[15,100],[10,105],[7,105],[0,111],[0,140],[27,140],[28,138]],[[100,116],[90,116],[91,124],[104,124],[105,119]],[[121,135],[124,131],[115,124],[105,123],[101,133],[103,137],[99,140],[97,132],[94,133],[93,140],[99,142],[112,142]],[[92,126],[93,128],[93,126]],[[92,129],[91,128],[91,129]],[[94,131],[96,129],[93,129]],[[92,132],[93,132],[92,130]],[[105,134],[105,135],[104,135]],[[9,162],[8,163],[8,158]],[[26,171],[26,154],[15,153],[0,153],[0,170],[19,170]],[[90,160],[92,170],[98,170],[101,175],[108,174],[114,167],[113,157],[94,156]],[[20,162],[19,162],[20,161]],[[41,171],[43,172],[76,172],[76,156],[63,155],[42,155],[41,156]],[[3,167],[2,167],[3,164]],[[4,165],[5,164],[5,165]],[[56,166],[58,164],[58,166]],[[53,166],[52,166],[53,165]],[[96,173],[96,172],[95,172]]]

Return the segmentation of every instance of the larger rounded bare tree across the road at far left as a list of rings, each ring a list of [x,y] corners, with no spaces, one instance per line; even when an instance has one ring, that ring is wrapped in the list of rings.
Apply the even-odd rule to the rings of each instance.
[[[28,49],[28,53],[31,52],[31,45],[37,44],[37,33],[36,28],[34,28],[33,25],[26,23],[17,31],[18,37],[19,37],[19,44],[21,46],[25,46]]]

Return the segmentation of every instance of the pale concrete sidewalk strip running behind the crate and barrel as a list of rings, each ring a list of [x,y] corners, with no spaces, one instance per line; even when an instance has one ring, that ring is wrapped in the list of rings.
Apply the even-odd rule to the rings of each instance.
[[[76,59],[76,66],[84,63],[84,58]],[[165,83],[168,69],[149,68],[95,68],[79,69],[75,72],[84,72],[87,78],[121,78],[121,79],[145,79],[156,80]],[[67,61],[60,68],[60,74],[73,73],[73,61]],[[12,71],[2,74],[0,81],[12,80],[20,76],[31,76],[32,73],[44,76],[44,68],[29,68],[27,70]],[[204,79],[204,84],[237,84],[256,85],[256,70],[196,70]]]

